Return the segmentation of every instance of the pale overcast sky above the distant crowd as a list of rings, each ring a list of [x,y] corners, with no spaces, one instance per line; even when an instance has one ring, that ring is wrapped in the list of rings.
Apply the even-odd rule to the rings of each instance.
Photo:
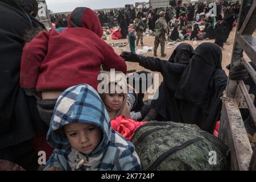
[[[148,0],[46,0],[48,9],[53,13],[72,11],[76,7],[89,7],[93,10],[125,7],[135,2],[148,2]]]

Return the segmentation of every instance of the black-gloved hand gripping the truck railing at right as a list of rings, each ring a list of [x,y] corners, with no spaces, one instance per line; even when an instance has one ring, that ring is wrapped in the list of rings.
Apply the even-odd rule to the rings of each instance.
[[[226,66],[230,70],[230,64]],[[248,72],[243,64],[234,67],[232,71],[229,72],[229,78],[232,80],[246,80],[248,77]]]

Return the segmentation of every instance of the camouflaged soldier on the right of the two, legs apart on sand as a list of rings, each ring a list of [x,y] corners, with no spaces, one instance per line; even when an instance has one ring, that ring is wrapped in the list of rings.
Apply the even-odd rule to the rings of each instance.
[[[158,49],[159,43],[161,46],[161,57],[166,57],[164,53],[164,45],[166,44],[166,34],[168,33],[167,22],[164,19],[164,11],[159,13],[160,18],[155,22],[155,47],[154,47],[154,56]]]

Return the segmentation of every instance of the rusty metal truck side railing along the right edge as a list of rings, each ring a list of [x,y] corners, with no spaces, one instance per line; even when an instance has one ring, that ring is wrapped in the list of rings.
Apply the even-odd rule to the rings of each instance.
[[[241,1],[240,17],[237,23],[231,69],[241,62],[256,84],[256,72],[249,64],[256,65],[256,39],[253,33],[256,28],[256,1]],[[246,53],[249,59],[243,57]],[[231,170],[256,170],[256,147],[252,147],[242,119],[240,108],[250,111],[256,126],[256,109],[254,96],[249,94],[249,87],[242,80],[228,79],[222,99],[221,126],[219,138],[229,147]]]

